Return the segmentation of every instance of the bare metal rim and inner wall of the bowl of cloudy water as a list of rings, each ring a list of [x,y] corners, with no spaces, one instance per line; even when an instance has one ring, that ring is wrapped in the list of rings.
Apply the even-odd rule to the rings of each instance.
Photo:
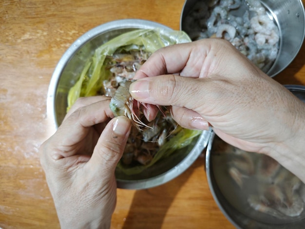
[[[286,85],[286,88],[305,102],[305,86]],[[227,172],[222,172],[222,177],[219,175],[219,170],[227,167],[226,161],[222,161],[222,168],[216,166],[216,164],[219,164],[219,154],[217,155],[216,149],[223,147],[223,145],[220,146],[220,144],[228,145],[211,132],[206,152],[208,184],[219,209],[234,225],[234,227],[237,229],[304,229],[305,210],[303,210],[298,217],[278,218],[252,210],[241,203],[242,201],[240,196],[245,194],[244,190],[246,188],[242,191],[238,191],[234,188],[234,186],[236,187],[236,184],[229,177]]]

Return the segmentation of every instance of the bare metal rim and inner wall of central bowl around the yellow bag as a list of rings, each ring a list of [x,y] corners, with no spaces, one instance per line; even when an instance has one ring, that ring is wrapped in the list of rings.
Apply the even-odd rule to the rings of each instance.
[[[147,20],[116,20],[95,27],[68,48],[56,66],[47,96],[47,115],[55,129],[66,115],[68,92],[75,84],[87,59],[93,56],[95,49],[131,30],[153,28],[160,28],[160,33],[172,31],[167,26]],[[172,154],[139,174],[126,175],[116,171],[118,188],[147,189],[172,180],[191,166],[208,144],[209,137],[210,131],[204,131],[187,149],[183,148],[182,151]]]

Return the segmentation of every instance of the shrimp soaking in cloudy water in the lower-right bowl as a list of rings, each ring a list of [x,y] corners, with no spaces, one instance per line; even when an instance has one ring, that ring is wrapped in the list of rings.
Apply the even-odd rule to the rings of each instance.
[[[297,176],[265,154],[242,151],[220,139],[217,145],[215,153],[225,156],[225,170],[251,209],[282,220],[302,214],[305,184]]]

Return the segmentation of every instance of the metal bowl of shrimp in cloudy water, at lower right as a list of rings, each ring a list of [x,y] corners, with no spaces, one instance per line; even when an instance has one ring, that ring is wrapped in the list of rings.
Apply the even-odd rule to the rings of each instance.
[[[305,86],[286,85],[305,102]],[[206,171],[215,202],[238,229],[303,229],[305,184],[273,158],[211,133]]]

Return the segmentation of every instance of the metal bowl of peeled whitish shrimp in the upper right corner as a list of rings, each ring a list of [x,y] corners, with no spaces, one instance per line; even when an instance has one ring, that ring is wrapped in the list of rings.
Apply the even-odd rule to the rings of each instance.
[[[186,0],[180,29],[192,40],[227,39],[273,77],[303,44],[305,10],[302,0]]]

